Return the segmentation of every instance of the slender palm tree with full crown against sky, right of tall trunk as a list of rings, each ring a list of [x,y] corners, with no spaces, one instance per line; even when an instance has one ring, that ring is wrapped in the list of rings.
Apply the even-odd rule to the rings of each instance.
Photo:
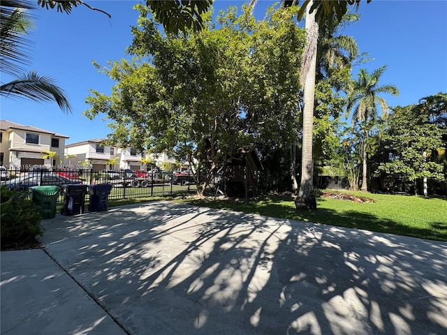
[[[399,95],[399,89],[394,85],[379,86],[379,80],[386,66],[374,70],[371,74],[365,69],[360,69],[357,80],[353,81],[348,97],[346,116],[352,111],[352,123],[360,123],[362,133],[362,187],[360,191],[367,191],[367,145],[369,131],[379,117],[379,109],[383,115],[388,112],[388,103],[379,94]]]

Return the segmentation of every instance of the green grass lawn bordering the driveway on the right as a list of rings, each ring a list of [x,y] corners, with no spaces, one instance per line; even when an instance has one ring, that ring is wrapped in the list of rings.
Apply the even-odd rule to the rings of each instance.
[[[447,241],[447,198],[351,193],[374,202],[318,198],[316,212],[296,211],[288,195],[266,195],[257,200],[175,200],[204,207],[242,211],[339,227]]]

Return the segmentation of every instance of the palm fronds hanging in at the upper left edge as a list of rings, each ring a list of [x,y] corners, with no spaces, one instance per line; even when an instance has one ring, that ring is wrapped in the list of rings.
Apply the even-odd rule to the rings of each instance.
[[[0,5],[0,64],[4,73],[15,75],[11,82],[0,85],[0,95],[5,97],[29,98],[34,101],[55,101],[64,112],[71,112],[71,105],[66,93],[57,87],[48,76],[38,75],[36,70],[22,72],[29,56],[29,42],[24,36],[31,26],[27,10],[34,6],[29,1],[7,0]]]

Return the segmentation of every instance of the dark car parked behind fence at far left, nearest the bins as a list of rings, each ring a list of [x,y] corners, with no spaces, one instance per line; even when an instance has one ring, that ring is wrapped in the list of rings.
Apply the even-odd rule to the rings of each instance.
[[[81,179],[69,179],[55,173],[45,173],[42,176],[28,174],[8,181],[2,181],[1,186],[6,186],[10,190],[24,191],[32,186],[62,186],[66,184],[82,184]]]

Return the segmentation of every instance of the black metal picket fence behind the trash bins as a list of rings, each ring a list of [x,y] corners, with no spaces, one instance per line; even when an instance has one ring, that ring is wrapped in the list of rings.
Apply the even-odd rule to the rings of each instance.
[[[33,186],[60,186],[70,184],[98,185],[110,184],[112,190],[109,200],[150,198],[176,195],[182,193],[195,193],[191,174],[174,174],[169,172],[148,171],[130,172],[129,170],[105,170],[101,172],[87,170],[1,170],[1,185],[8,189],[26,191]],[[89,193],[85,195],[89,201]],[[58,204],[64,202],[61,193]]]

